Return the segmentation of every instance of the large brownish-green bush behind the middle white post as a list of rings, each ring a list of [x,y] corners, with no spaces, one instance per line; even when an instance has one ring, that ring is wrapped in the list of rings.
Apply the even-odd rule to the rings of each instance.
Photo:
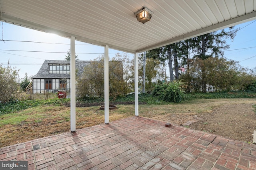
[[[84,67],[84,72],[77,79],[78,98],[104,97],[104,58],[99,57]],[[114,100],[128,93],[124,80],[122,61],[112,58],[109,62],[109,97]]]

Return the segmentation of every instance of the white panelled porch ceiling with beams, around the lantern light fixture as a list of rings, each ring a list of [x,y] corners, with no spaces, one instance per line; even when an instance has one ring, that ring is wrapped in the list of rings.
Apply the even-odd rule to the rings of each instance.
[[[154,14],[142,24],[134,13]],[[256,0],[0,0],[0,20],[78,41],[143,52],[256,20]]]

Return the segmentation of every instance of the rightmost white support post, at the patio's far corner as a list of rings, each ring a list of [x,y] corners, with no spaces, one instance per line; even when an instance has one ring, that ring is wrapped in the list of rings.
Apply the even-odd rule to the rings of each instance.
[[[134,53],[134,96],[135,115],[139,115],[139,88],[138,88],[138,53]]]

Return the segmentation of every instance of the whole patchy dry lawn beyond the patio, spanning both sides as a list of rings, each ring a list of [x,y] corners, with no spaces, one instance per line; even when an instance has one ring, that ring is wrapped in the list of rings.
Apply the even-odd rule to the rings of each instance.
[[[241,107],[243,111],[232,110],[234,113],[237,110],[237,114],[242,113],[243,115],[238,116],[230,113],[230,122],[236,121],[242,123],[242,121],[247,121],[245,127],[239,127],[240,130],[248,129],[249,131],[244,131],[242,133],[244,136],[249,134],[251,129],[254,127],[249,127],[248,121],[256,122],[256,115],[253,110],[252,104],[255,104],[255,99],[203,99],[203,100],[191,100],[184,102],[182,104],[168,104],[168,105],[140,105],[139,106],[139,116],[147,117],[150,119],[160,120],[164,122],[171,122],[176,125],[184,125],[188,121],[198,120],[198,117],[202,119],[207,119],[211,117],[213,122],[207,121],[206,125],[198,121],[198,126],[190,126],[190,128],[198,130],[206,130],[208,132],[217,132],[217,129],[206,129],[206,127],[214,128],[221,127],[218,130],[220,134],[228,135],[234,133],[240,133],[237,129],[232,130],[232,126],[229,123],[224,129],[224,124],[226,123],[226,118],[222,119],[223,115],[228,115],[228,111],[233,106],[238,104],[244,105]],[[76,107],[76,129],[81,129],[84,127],[90,127],[93,125],[98,125],[104,123],[104,110],[100,110],[99,106],[93,107]],[[225,112],[225,113],[224,113]],[[250,113],[249,113],[250,112]],[[218,113],[218,114],[217,114]],[[221,114],[222,113],[222,114]],[[249,116],[249,114],[251,114]],[[218,116],[220,119],[214,118]],[[109,111],[109,121],[115,121],[118,119],[124,119],[126,117],[134,116],[134,105],[118,105],[117,109]],[[250,118],[250,119],[245,119]],[[216,122],[214,122],[216,119]],[[214,124],[215,123],[215,124]],[[199,125],[204,125],[202,127]],[[213,127],[210,127],[213,125]],[[255,124],[256,125],[256,124]],[[201,129],[204,128],[204,129]],[[250,128],[250,129],[249,129]],[[224,132],[222,132],[222,131]],[[255,129],[254,129],[255,130]],[[33,139],[38,139],[50,135],[55,135],[59,133],[64,133],[70,131],[70,107],[63,106],[38,106],[29,108],[18,113],[10,113],[0,116],[0,147],[13,145],[16,143],[22,143],[25,141],[30,141]],[[253,133],[253,131],[252,131]],[[236,137],[238,135],[231,135],[230,137]],[[238,140],[250,141],[250,139],[245,139],[239,135]]]

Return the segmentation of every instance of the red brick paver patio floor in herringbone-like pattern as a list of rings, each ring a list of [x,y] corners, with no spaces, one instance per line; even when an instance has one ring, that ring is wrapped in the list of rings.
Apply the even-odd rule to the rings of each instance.
[[[131,117],[0,148],[29,170],[256,170],[256,145]]]

